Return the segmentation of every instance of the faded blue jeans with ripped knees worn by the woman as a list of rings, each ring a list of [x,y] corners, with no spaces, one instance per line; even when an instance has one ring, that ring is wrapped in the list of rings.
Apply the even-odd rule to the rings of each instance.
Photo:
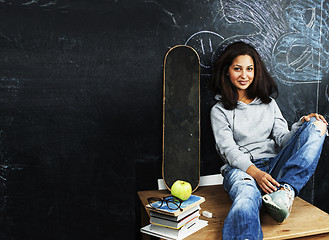
[[[295,196],[313,175],[325,135],[313,124],[315,118],[305,122],[274,158],[254,160],[254,164],[276,179],[281,185],[288,183]],[[259,211],[262,192],[257,182],[246,172],[231,166],[223,169],[224,188],[232,206],[225,219],[223,239],[263,239]]]

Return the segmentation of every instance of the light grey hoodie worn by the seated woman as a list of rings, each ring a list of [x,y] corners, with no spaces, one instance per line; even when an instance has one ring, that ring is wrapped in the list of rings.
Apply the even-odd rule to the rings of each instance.
[[[229,164],[247,171],[253,159],[276,156],[302,125],[299,120],[289,131],[274,99],[269,104],[258,98],[250,104],[238,101],[234,110],[226,110],[220,96],[216,99],[210,117],[216,149],[226,162],[223,168]]]

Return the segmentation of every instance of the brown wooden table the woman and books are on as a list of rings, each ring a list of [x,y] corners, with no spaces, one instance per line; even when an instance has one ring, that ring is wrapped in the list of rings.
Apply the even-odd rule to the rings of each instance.
[[[138,192],[142,203],[142,227],[149,224],[149,210],[145,208],[147,198],[151,196],[163,197],[167,196],[168,193],[167,190]],[[232,203],[228,194],[222,185],[199,187],[193,194],[205,197],[206,201],[201,204],[201,212],[205,210],[210,211],[213,213],[213,218],[208,219],[200,216],[200,219],[208,221],[208,226],[185,239],[221,239],[224,220]],[[329,214],[299,197],[295,198],[292,212],[286,221],[279,224],[267,213],[262,212],[261,224],[264,239],[329,239]],[[148,235],[143,234],[143,239],[148,239]]]

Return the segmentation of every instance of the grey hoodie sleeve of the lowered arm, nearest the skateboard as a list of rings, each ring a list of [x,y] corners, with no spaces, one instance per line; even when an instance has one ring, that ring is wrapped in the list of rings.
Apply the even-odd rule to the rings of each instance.
[[[218,104],[211,109],[210,119],[217,151],[232,167],[246,172],[253,163],[248,154],[239,150],[239,146],[234,141],[227,115]]]

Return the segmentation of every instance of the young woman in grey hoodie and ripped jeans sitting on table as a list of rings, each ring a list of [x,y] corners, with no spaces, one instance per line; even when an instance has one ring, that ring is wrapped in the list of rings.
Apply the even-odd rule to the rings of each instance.
[[[271,97],[278,92],[257,51],[243,42],[224,50],[214,66],[211,124],[224,159],[224,188],[233,201],[223,239],[263,239],[259,210],[283,222],[293,199],[313,175],[327,132],[317,113],[288,129]],[[263,196],[262,196],[263,195]]]

